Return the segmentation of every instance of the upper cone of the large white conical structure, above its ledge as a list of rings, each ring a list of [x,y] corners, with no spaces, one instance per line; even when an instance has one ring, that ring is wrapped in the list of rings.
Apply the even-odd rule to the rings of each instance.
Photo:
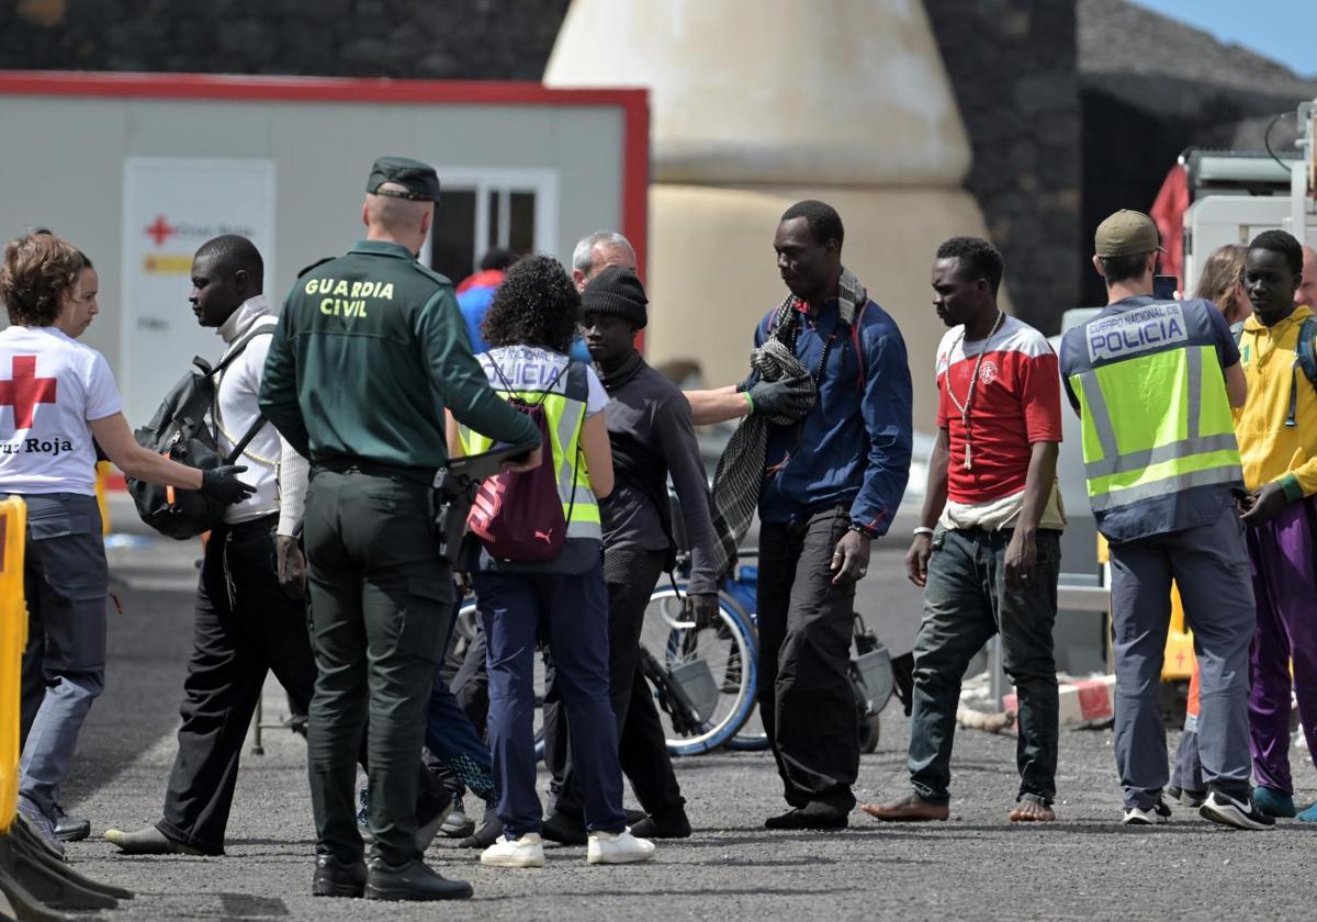
[[[574,0],[544,80],[649,87],[658,182],[947,186],[969,166],[918,0]]]

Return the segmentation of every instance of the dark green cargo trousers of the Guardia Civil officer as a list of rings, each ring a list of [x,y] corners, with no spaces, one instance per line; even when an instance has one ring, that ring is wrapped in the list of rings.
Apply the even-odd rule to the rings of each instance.
[[[454,590],[431,532],[428,486],[414,477],[366,462],[316,466],[307,491],[311,803],[316,854],[345,863],[363,852],[354,803],[363,727],[371,857],[419,857],[416,764]]]

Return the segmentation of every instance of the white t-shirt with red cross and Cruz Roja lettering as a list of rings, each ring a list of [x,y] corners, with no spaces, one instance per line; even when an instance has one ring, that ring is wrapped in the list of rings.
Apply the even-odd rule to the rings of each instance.
[[[88,421],[122,410],[105,357],[53,327],[0,331],[0,493],[96,494]]]

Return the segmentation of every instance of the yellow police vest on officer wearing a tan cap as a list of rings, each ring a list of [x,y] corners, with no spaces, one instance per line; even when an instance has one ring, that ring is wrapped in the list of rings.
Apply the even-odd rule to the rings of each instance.
[[[1200,304],[1206,302],[1147,304],[1106,317],[1105,325],[1089,321],[1071,331],[1073,339],[1067,333],[1063,373],[1080,404],[1098,528],[1113,514],[1159,501],[1167,526],[1152,532],[1196,524],[1183,522],[1168,501],[1198,487],[1242,485],[1225,375]],[[1220,507],[1204,510],[1209,522],[1217,514]]]

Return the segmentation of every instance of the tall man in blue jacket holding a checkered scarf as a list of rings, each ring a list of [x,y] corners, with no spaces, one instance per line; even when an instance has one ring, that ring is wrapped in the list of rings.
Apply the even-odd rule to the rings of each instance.
[[[892,317],[842,266],[822,202],[773,240],[790,294],[755,331],[741,385],[687,391],[695,423],[749,419],[714,479],[724,556],[760,518],[760,714],[792,809],[768,828],[843,828],[860,767],[848,676],[855,583],[910,473],[910,367]]]

